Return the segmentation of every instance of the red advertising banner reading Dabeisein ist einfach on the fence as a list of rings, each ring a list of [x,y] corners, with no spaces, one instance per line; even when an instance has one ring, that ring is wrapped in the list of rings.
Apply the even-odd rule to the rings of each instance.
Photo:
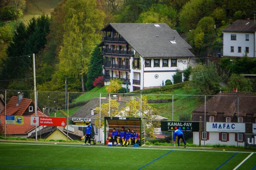
[[[30,124],[34,126],[63,126],[67,124],[67,118],[36,117],[31,116]]]

